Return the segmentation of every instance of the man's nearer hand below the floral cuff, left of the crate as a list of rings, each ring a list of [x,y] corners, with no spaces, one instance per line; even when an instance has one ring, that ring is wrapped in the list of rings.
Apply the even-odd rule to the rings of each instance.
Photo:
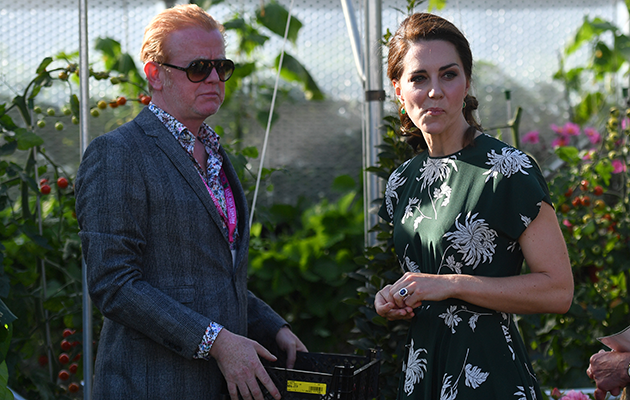
[[[252,397],[263,400],[256,378],[275,399],[280,398],[280,392],[258,358],[261,356],[276,361],[276,356],[258,342],[223,328],[210,348],[210,355],[217,360],[232,400],[239,400],[239,393],[243,400],[251,400]]]

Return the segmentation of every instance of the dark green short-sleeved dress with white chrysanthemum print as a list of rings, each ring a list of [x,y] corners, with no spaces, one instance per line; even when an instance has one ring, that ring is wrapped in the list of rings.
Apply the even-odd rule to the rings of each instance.
[[[445,157],[423,152],[389,177],[379,215],[394,225],[404,271],[513,276],[518,238],[551,204],[536,162],[487,135]],[[511,314],[425,301],[407,338],[399,399],[542,399]]]

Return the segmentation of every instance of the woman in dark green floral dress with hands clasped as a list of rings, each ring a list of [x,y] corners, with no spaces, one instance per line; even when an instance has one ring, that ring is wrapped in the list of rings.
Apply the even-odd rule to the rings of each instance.
[[[573,277],[541,171],[481,132],[470,47],[448,21],[408,17],[387,73],[401,133],[421,151],[390,176],[379,213],[406,271],[375,299],[379,315],[411,323],[398,396],[542,399],[511,314],[565,313]]]

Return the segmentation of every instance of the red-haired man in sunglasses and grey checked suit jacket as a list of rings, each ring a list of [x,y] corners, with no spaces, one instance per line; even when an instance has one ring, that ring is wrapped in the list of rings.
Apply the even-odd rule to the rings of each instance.
[[[151,104],[90,144],[75,185],[90,296],[105,316],[93,396],[260,400],[258,379],[279,398],[262,344],[289,368],[306,348],[247,290],[245,195],[204,123],[234,70],[223,27],[195,5],[165,10],[141,59]]]

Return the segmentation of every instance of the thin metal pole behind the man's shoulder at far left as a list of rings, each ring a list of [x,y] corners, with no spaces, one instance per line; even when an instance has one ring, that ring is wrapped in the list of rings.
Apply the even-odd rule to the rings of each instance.
[[[81,158],[89,143],[90,66],[88,63],[87,0],[79,0],[79,81]],[[83,399],[92,398],[92,301],[87,288],[87,265],[81,263],[83,287]]]

